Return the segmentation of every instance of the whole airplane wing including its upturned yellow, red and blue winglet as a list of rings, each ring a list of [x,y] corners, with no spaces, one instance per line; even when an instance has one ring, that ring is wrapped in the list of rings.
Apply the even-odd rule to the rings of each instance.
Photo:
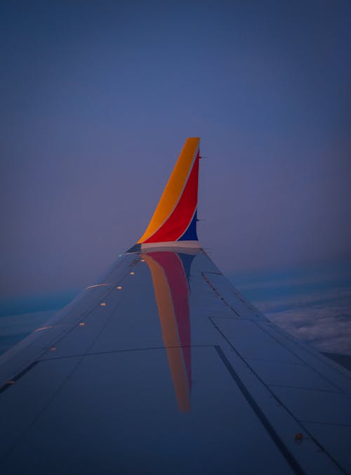
[[[197,239],[199,138],[105,279],[0,357],[1,474],[347,474],[351,380]]]

